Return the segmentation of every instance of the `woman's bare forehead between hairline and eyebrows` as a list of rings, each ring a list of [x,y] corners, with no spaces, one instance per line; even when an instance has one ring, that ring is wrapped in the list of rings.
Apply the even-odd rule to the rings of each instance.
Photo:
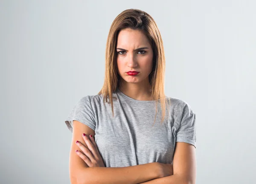
[[[117,37],[117,46],[150,46],[148,38],[140,30],[123,29]]]

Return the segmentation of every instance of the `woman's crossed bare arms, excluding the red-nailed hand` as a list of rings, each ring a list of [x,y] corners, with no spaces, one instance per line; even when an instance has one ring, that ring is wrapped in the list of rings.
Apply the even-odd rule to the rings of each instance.
[[[95,135],[90,127],[73,121],[69,164],[71,184],[195,184],[195,147],[191,144],[176,142],[173,175],[165,176],[163,167],[157,162],[130,167],[89,167],[76,153],[79,150],[76,140],[86,145],[81,137],[83,133]]]

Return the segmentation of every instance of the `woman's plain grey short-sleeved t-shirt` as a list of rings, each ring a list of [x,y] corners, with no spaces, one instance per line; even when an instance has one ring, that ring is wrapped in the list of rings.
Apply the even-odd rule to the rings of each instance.
[[[166,96],[171,100],[170,115],[160,124],[159,103],[153,126],[156,101],[135,100],[119,89],[113,92],[113,97],[116,97],[113,99],[114,116],[111,104],[103,104],[102,95],[86,95],[76,103],[65,121],[71,132],[73,120],[95,131],[95,141],[106,167],[151,162],[172,164],[175,142],[196,147],[195,113],[185,101]]]

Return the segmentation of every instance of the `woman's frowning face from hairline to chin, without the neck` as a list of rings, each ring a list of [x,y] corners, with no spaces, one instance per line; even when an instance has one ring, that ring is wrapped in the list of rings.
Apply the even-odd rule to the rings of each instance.
[[[121,30],[117,37],[116,57],[121,80],[127,83],[149,83],[148,75],[153,68],[153,50],[143,32],[132,29]],[[139,73],[128,75],[129,71]]]

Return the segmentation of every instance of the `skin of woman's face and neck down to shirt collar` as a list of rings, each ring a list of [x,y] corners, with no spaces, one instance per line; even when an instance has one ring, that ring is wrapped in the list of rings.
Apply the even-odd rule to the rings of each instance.
[[[134,51],[142,47],[148,49]],[[140,30],[124,29],[119,32],[116,48],[118,74],[121,76],[120,91],[136,100],[151,100],[148,75],[153,68],[153,50],[148,38]],[[128,71],[140,73],[131,76],[126,73]]]

